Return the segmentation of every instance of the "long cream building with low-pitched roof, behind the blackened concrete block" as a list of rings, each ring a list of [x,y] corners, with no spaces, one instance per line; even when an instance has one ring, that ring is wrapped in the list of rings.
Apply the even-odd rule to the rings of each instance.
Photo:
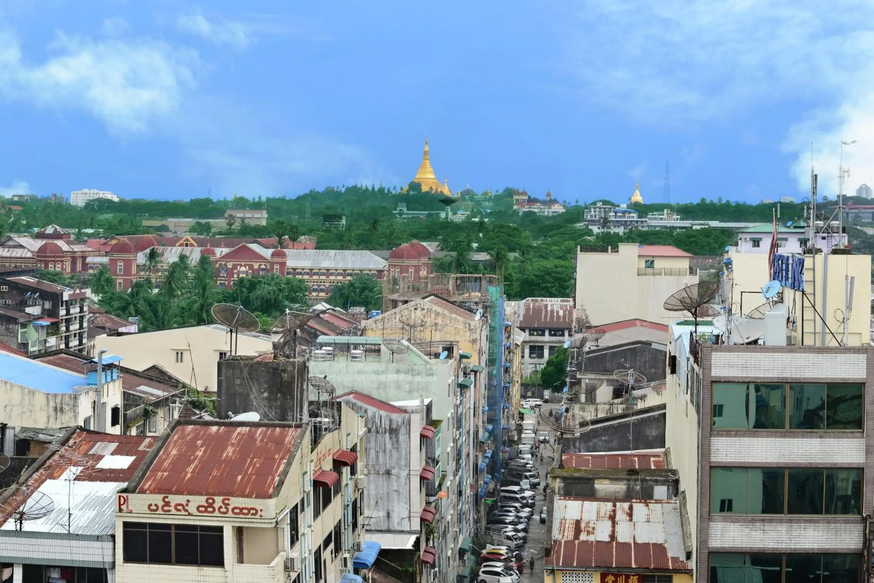
[[[239,341],[239,342],[238,342]],[[94,350],[108,349],[124,358],[125,366],[144,371],[158,365],[200,391],[218,389],[218,361],[230,356],[231,338],[221,324],[205,324],[94,338]],[[258,356],[273,350],[267,334],[240,332],[234,340],[239,356]]]

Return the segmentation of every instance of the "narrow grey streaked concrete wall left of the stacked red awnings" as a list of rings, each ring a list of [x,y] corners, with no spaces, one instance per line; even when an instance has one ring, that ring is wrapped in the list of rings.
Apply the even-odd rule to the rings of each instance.
[[[368,530],[418,531],[420,508],[411,507],[410,415],[386,413],[356,399],[342,400],[350,409],[364,415],[364,427],[367,427],[364,515],[373,517]],[[416,471],[418,473],[419,468]]]

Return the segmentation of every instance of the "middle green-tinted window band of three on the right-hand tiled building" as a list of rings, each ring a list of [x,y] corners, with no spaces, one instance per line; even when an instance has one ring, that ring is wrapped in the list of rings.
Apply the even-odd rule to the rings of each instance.
[[[861,468],[711,468],[711,514],[862,514]]]

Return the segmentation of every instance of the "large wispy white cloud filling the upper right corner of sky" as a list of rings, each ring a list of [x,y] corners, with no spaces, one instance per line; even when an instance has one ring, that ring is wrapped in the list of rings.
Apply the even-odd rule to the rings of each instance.
[[[836,192],[841,139],[848,191],[874,183],[874,4],[845,0],[588,0],[572,21],[566,66],[598,106],[655,124],[730,122],[788,103],[808,108],[782,141],[809,183],[810,143],[820,192]],[[871,138],[874,140],[874,138]],[[833,175],[833,176],[832,176]]]

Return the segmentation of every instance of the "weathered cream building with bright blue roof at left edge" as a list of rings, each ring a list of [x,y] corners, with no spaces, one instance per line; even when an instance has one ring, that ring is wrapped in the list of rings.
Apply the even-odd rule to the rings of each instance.
[[[121,434],[123,395],[118,370],[103,371],[98,426],[96,364],[81,373],[0,352],[0,423],[10,427],[85,427]]]

